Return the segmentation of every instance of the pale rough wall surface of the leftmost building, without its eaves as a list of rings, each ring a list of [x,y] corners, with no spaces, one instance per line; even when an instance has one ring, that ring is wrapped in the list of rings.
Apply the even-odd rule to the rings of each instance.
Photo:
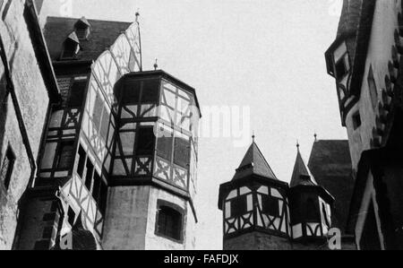
[[[0,122],[0,129],[5,130],[4,135],[0,136],[0,163],[3,162],[4,152],[8,146],[13,149],[16,161],[8,191],[5,191],[3,182],[0,182],[0,249],[11,249],[17,227],[18,203],[29,185],[32,171],[20,124],[28,134],[28,140],[25,142],[30,144],[33,157],[37,158],[49,100],[23,17],[25,1],[4,2],[6,8],[3,6],[1,10],[0,36],[4,42],[22,117],[22,122],[19,122],[17,117],[19,109],[13,105],[13,99],[8,94],[4,101],[6,115]]]

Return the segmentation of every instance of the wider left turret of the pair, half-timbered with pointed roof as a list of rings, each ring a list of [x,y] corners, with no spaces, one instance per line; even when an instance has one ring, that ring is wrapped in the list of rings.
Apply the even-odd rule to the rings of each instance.
[[[291,249],[287,189],[253,141],[233,179],[219,188],[224,249]]]

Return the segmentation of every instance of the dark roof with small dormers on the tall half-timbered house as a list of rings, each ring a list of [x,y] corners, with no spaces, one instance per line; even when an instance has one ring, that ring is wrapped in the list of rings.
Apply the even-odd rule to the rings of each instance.
[[[47,17],[44,33],[52,60],[59,59],[64,40],[74,31],[75,23],[84,22],[83,20],[83,18]],[[78,54],[77,60],[96,60],[132,24],[132,22],[99,20],[85,20],[85,22],[90,24],[90,36],[89,39],[80,40],[81,52]]]

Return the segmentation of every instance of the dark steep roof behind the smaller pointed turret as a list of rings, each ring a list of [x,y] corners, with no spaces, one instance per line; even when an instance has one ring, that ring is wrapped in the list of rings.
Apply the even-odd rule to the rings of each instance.
[[[346,229],[354,188],[348,141],[316,141],[308,163],[318,185],[335,198],[333,225]]]

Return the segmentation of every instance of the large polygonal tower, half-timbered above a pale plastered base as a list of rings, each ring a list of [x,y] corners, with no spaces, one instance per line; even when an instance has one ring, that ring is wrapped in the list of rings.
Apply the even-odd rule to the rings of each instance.
[[[115,94],[116,149],[103,245],[193,249],[200,117],[194,89],[152,71],[125,75]]]

